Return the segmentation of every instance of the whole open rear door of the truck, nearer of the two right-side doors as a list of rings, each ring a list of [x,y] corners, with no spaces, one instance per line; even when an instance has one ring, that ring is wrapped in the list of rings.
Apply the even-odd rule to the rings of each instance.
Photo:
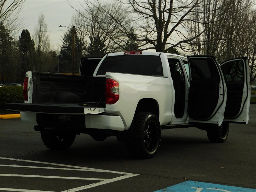
[[[227,94],[218,62],[212,56],[188,56],[188,65],[188,121],[221,125]]]

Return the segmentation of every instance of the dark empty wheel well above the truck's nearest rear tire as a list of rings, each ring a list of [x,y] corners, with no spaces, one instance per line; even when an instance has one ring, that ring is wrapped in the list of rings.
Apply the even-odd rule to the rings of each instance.
[[[141,99],[137,105],[136,112],[151,112],[159,118],[159,106],[156,100],[151,98]]]

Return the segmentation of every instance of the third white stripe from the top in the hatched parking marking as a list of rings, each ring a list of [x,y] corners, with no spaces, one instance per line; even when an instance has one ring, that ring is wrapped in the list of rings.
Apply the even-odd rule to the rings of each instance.
[[[76,179],[76,180],[100,180],[100,181],[108,180],[108,179],[100,179],[100,178],[60,177],[60,176],[48,176],[48,175],[0,174],[0,176],[5,176],[5,177],[36,177],[36,178],[51,178],[51,179]]]

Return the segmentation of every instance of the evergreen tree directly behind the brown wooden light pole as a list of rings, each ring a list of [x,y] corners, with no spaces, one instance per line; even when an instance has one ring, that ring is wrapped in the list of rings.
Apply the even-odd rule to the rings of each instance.
[[[62,57],[59,60],[59,71],[60,72],[72,72],[72,44],[73,44],[73,29],[69,29],[68,32],[62,37],[62,46],[60,48],[60,55]],[[75,72],[79,71],[80,59],[83,57],[83,43],[77,36],[75,31]]]

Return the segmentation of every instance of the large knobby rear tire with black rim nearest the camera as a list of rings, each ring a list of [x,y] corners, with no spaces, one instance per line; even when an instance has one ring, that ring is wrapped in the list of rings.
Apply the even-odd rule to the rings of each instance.
[[[160,141],[161,126],[158,117],[148,112],[136,113],[129,143],[133,154],[141,158],[151,158],[156,154]]]

